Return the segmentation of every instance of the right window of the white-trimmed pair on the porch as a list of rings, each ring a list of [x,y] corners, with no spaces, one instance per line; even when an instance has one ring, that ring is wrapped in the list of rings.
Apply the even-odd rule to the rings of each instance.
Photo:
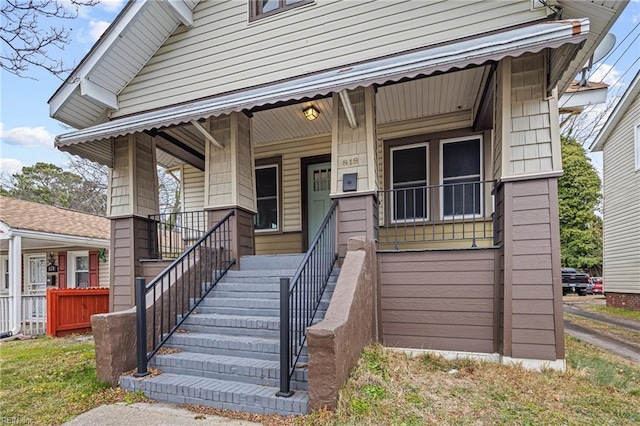
[[[442,217],[482,212],[482,137],[441,141],[440,179]]]

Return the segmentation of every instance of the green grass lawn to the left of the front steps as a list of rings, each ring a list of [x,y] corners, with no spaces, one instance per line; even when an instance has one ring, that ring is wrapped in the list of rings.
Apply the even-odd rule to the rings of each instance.
[[[97,380],[93,341],[69,337],[0,344],[3,423],[61,424],[102,404],[144,399]]]

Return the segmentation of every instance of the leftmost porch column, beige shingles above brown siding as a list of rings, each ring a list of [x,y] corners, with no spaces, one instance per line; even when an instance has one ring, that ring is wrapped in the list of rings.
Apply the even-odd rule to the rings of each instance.
[[[148,258],[148,215],[159,212],[156,147],[144,133],[112,142],[107,217],[111,219],[109,311],[135,305],[135,277],[143,276],[140,259]]]

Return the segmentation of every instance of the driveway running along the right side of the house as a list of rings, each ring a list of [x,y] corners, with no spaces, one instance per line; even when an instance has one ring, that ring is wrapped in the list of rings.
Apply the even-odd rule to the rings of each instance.
[[[593,305],[605,305],[603,296],[573,296],[568,295],[563,298],[563,311],[565,314],[579,316],[589,321],[598,322],[612,327],[614,330],[623,330],[626,335],[633,336],[634,333],[640,334],[640,322],[627,319],[621,319],[595,313],[585,308]],[[600,346],[615,354],[623,356],[627,359],[640,363],[640,339],[622,339],[615,333],[607,333],[606,331],[594,328],[584,327],[565,318],[564,329],[570,336],[576,337],[587,343]]]

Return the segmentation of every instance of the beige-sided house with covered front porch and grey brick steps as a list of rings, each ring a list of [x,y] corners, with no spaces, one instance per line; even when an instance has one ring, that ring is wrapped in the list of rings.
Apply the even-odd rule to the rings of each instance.
[[[301,332],[293,338],[294,356],[281,362],[289,358],[294,379],[304,369],[298,379],[305,385],[287,403],[278,398],[288,387],[273,398],[247,391],[235,404],[231,394],[224,402],[211,393],[213,380],[233,380],[229,375],[200,371],[212,382],[180,394],[178,376],[191,368],[185,366],[167,367],[160,379],[127,379],[126,386],[256,412],[331,407],[370,340],[563,369],[558,97],[625,5],[129,2],[49,101],[54,118],[78,129],[58,136],[56,146],[111,169],[114,314],[96,321],[131,328],[126,315],[136,304],[135,277],[146,276],[151,282],[138,302],[146,291],[146,306],[160,301],[158,311],[180,320],[163,326],[165,317],[143,310],[154,324],[147,330],[154,343],[142,343],[138,359],[178,362],[178,354],[158,354],[156,340],[179,329],[187,311],[211,315],[209,325],[241,321],[222,313],[231,304],[222,286],[249,280],[251,290],[233,303],[262,306],[255,318],[267,328],[282,331],[290,323],[289,338]],[[176,228],[156,216],[157,164],[179,167],[180,227],[201,230],[176,240],[197,241],[185,243],[174,261],[159,262],[172,252],[166,239]],[[200,218],[205,226],[188,225]],[[281,299],[278,306],[287,309],[271,323],[267,303],[247,295],[270,285],[264,277],[271,276],[268,264],[280,265],[275,255],[295,253],[306,254],[291,268],[279,267],[292,270],[284,287],[291,297]],[[192,297],[192,271],[202,269],[216,271],[196,280],[209,292],[203,297],[217,294],[228,305],[211,314],[209,302]],[[319,286],[312,279],[318,275]],[[323,311],[322,290],[332,276],[337,283],[325,320],[297,321],[291,312]],[[264,278],[263,289],[255,277]],[[166,286],[157,287],[163,280]],[[185,281],[191,284],[179,290]],[[159,288],[153,296],[152,288]],[[166,307],[164,293],[173,295],[176,309]],[[189,302],[178,302],[180,294]],[[235,314],[252,318],[242,309]],[[129,319],[113,320],[118,312]],[[189,350],[184,341],[203,330],[193,327],[168,345]],[[270,345],[260,340],[254,351],[257,338],[222,338],[225,327],[212,331],[218,337],[204,344],[212,349],[198,355],[202,363],[220,365],[206,357],[231,347],[237,354]],[[98,347],[118,352],[108,342]],[[273,347],[286,352],[282,343]],[[306,362],[296,364],[301,356],[308,356],[308,371]],[[122,367],[98,359],[99,374],[116,380],[134,358],[122,359]],[[283,371],[274,377],[282,379]],[[153,380],[168,387],[156,388]]]

